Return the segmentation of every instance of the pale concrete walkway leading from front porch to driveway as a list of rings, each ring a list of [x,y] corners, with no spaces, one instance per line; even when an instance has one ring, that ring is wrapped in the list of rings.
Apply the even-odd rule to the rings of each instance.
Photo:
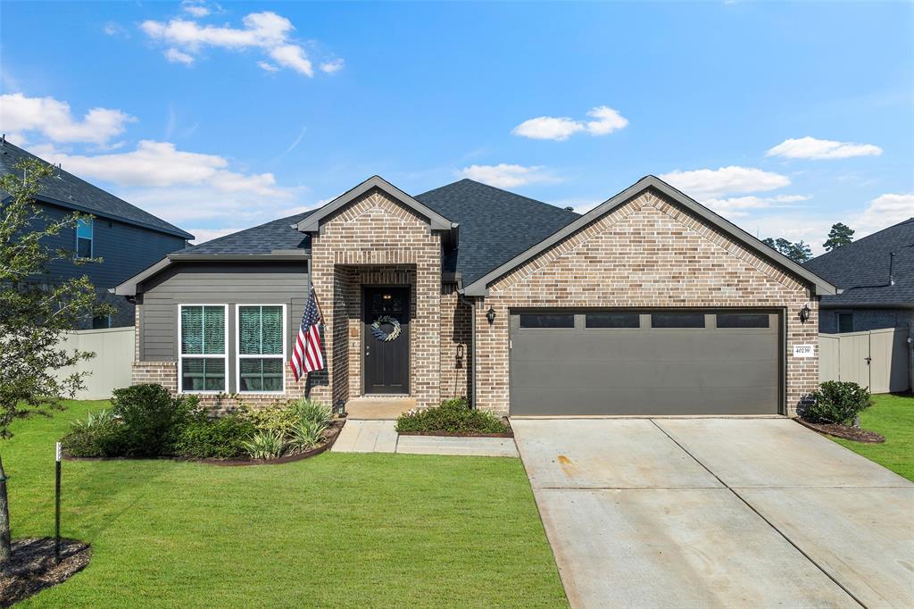
[[[336,453],[453,454],[518,456],[512,438],[451,438],[399,435],[396,421],[348,420],[331,451]]]

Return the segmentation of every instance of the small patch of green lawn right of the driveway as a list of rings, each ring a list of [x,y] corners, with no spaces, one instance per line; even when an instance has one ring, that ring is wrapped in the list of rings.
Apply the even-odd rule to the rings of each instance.
[[[864,444],[832,439],[896,474],[914,480],[914,396],[873,396],[873,406],[860,415],[860,426],[883,434],[886,442]]]

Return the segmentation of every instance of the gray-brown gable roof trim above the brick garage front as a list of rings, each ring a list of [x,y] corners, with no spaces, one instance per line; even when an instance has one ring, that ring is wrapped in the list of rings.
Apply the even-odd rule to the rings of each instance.
[[[791,272],[792,275],[797,276],[805,282],[813,285],[818,294],[835,294],[835,287],[831,283],[824,281],[824,279],[821,277],[815,275],[813,272],[804,269],[801,265],[793,262],[786,256],[783,256],[781,253],[772,250],[760,240],[749,235],[749,233],[745,230],[742,230],[735,224],[721,218],[710,209],[701,205],[696,200],[687,197],[685,194],[676,190],[674,187],[671,187],[669,184],[656,176],[643,177],[631,187],[626,188],[621,193],[610,198],[604,203],[601,203],[596,208],[591,209],[579,219],[574,220],[561,230],[558,230],[547,237],[547,239],[541,240],[533,247],[521,252],[511,260],[495,268],[493,271],[487,272],[484,276],[475,280],[473,283],[469,283],[464,288],[464,293],[471,296],[484,296],[488,294],[488,285],[495,279],[501,277],[506,272],[515,269],[520,264],[530,260],[534,256],[537,256],[539,253],[546,251],[553,245],[556,245],[559,241],[564,240],[574,232],[583,229],[594,220],[599,219],[604,214],[609,213],[612,209],[617,208],[632,198],[637,197],[643,193],[643,191],[649,188],[654,188],[667,198],[670,198],[679,205],[682,205],[684,208],[688,209],[699,218],[707,221],[710,225],[716,227],[718,230],[728,234],[728,236],[734,240],[737,240],[739,243],[747,246],[749,250],[756,251],[772,262],[776,262],[779,266],[786,269],[788,272]]]

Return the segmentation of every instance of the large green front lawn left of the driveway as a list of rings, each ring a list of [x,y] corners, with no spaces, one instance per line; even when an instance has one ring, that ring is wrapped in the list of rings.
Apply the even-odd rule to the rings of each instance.
[[[53,532],[54,442],[0,441],[13,536]],[[24,606],[567,606],[518,459],[322,454],[288,465],[64,462],[89,567]]]

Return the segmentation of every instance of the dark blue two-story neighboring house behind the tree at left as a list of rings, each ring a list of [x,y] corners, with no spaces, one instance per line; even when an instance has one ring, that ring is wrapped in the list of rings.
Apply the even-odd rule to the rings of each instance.
[[[21,172],[16,166],[37,156],[0,139],[0,172]],[[8,195],[0,192],[0,197]],[[84,327],[133,326],[133,304],[114,297],[109,289],[161,260],[165,254],[186,246],[194,236],[156,218],[143,209],[105,192],[89,182],[55,169],[36,197],[37,206],[50,219],[62,219],[73,211],[91,214],[79,226],[63,230],[50,243],[72,251],[74,258],[101,258],[100,263],[76,264],[56,261],[49,265],[48,282],[89,275],[99,298],[116,308],[113,315],[87,319]]]

